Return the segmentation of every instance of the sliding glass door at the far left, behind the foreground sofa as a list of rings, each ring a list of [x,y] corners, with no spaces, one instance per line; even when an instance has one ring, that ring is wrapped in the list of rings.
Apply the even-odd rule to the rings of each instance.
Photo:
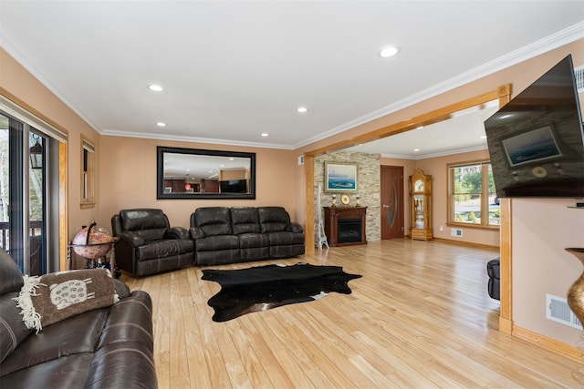
[[[47,272],[50,138],[0,111],[0,246],[23,273]]]

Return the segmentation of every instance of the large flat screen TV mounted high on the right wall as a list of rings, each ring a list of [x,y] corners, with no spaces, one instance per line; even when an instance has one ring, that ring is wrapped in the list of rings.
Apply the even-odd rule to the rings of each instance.
[[[498,197],[584,197],[584,132],[572,56],[485,120]]]

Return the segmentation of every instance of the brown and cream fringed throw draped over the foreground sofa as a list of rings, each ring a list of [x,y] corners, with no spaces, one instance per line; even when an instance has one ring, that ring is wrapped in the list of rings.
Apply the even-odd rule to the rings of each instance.
[[[24,277],[25,284],[15,300],[26,327],[36,333],[43,326],[120,301],[107,269]]]

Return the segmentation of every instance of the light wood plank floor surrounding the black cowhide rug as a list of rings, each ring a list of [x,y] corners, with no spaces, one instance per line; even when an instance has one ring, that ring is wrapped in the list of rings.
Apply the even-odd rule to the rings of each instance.
[[[151,293],[161,388],[579,387],[581,363],[496,331],[495,251],[392,240],[268,263],[342,266],[350,295],[213,322],[204,268],[134,280]]]

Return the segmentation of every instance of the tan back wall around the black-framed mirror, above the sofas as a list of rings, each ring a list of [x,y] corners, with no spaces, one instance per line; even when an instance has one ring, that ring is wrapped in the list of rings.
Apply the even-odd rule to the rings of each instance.
[[[109,229],[111,216],[130,208],[162,209],[173,226],[183,227],[189,227],[191,213],[198,207],[278,205],[294,220],[292,151],[109,136],[102,136],[100,145],[104,158],[99,164],[98,222]],[[156,200],[157,146],[255,152],[255,200]]]

